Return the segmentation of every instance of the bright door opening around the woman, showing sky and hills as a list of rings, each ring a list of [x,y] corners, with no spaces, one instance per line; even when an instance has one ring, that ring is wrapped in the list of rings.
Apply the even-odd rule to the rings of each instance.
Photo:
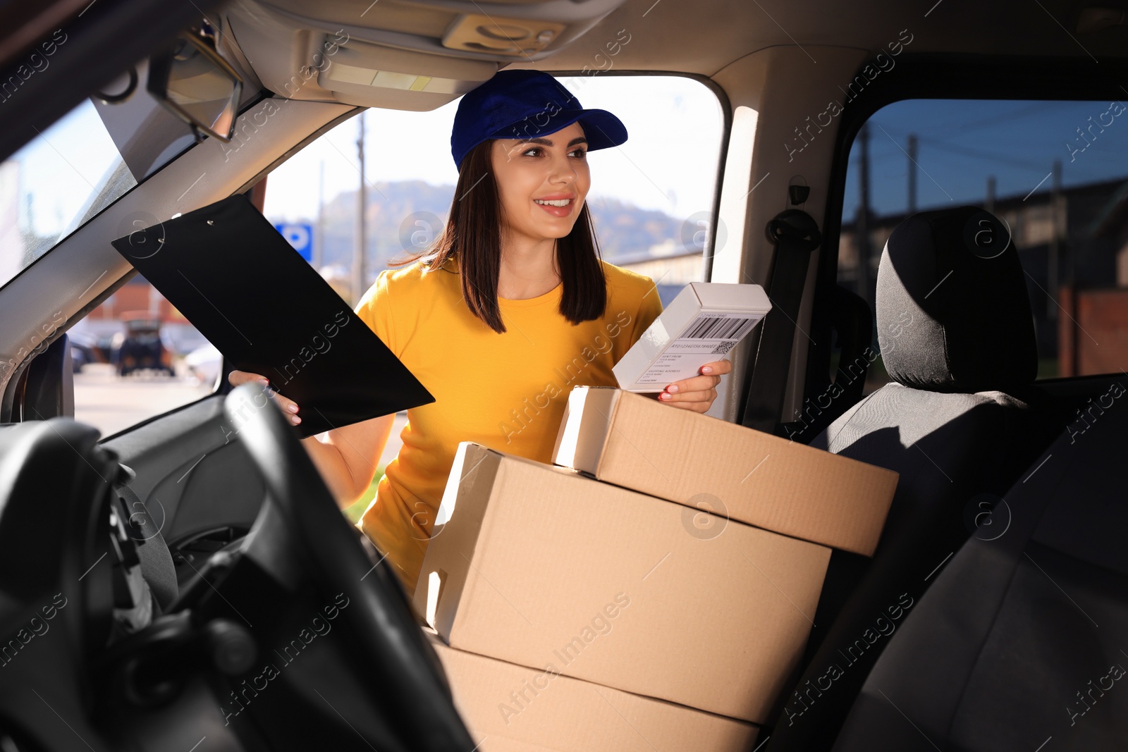
[[[614,57],[606,57],[601,68],[613,65]],[[664,306],[682,286],[704,278],[723,113],[716,96],[691,79],[600,73],[559,79],[584,107],[615,113],[629,134],[622,147],[588,157],[588,205],[600,250],[605,260],[654,280]],[[428,113],[370,109],[267,178],[267,219],[345,300],[355,302],[361,130],[365,241],[360,287],[367,290],[389,262],[425,249],[442,230],[458,178],[450,157],[457,108],[458,100]],[[720,245],[724,232],[717,238]],[[396,422],[381,471],[399,451],[405,421],[400,415]],[[353,513],[367,503],[362,499]]]

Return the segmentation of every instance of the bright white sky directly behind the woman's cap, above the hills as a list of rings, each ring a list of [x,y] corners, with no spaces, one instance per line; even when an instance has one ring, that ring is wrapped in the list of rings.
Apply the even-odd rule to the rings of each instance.
[[[711,207],[723,125],[712,91],[691,79],[667,76],[562,78],[561,82],[584,107],[607,109],[627,129],[623,145],[589,153],[593,196],[616,197],[678,218]],[[450,156],[450,130],[458,101],[428,113],[364,113],[369,182],[421,179],[453,185],[458,170]],[[321,163],[326,201],[355,189],[359,127],[356,117],[342,123],[271,174],[266,215],[314,216]]]

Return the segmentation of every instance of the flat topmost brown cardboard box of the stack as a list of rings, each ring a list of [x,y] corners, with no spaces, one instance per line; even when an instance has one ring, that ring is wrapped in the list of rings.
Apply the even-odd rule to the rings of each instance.
[[[610,387],[576,387],[553,461],[626,488],[865,556],[891,470]]]

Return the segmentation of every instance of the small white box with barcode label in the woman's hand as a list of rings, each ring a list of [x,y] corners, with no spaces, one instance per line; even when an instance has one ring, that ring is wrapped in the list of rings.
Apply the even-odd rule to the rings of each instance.
[[[628,391],[662,391],[722,360],[772,310],[758,284],[691,282],[611,369]]]

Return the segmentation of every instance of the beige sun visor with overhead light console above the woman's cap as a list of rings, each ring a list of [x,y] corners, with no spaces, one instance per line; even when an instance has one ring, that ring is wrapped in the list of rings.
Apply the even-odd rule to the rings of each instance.
[[[288,99],[424,112],[510,63],[579,41],[624,0],[271,0],[236,3],[232,35],[267,89]]]

